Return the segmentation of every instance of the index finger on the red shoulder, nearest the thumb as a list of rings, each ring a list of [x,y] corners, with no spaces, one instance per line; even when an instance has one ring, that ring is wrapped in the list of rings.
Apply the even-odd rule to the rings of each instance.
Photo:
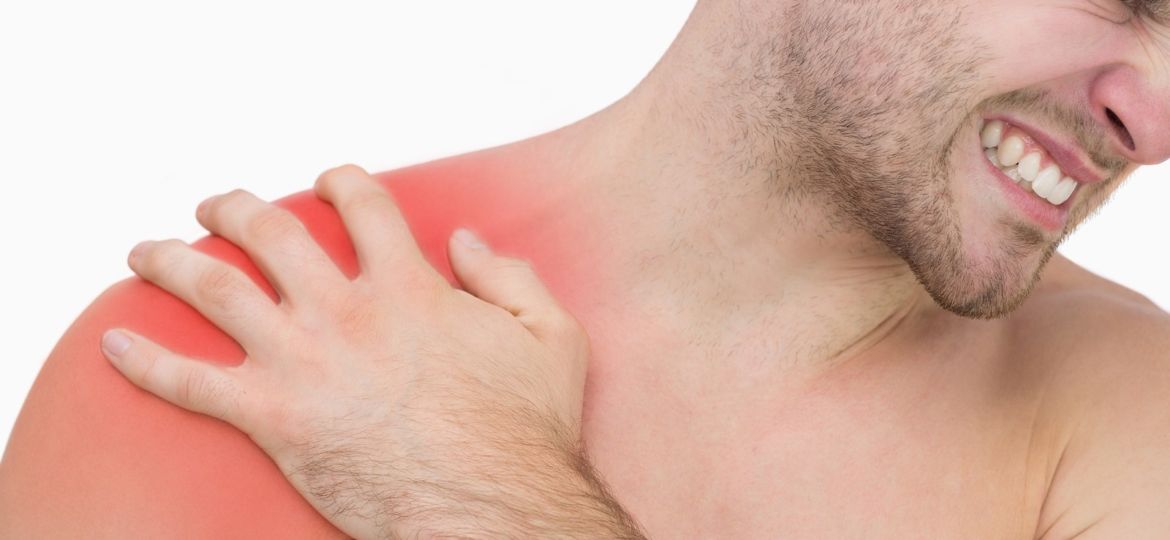
[[[362,167],[325,171],[314,191],[340,214],[363,275],[429,269],[398,206]]]

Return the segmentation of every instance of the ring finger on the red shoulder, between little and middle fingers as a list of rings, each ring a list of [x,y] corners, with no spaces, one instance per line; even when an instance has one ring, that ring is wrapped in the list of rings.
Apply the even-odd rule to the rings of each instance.
[[[285,317],[252,278],[223,261],[178,240],[143,242],[130,252],[130,268],[179,297],[254,351],[276,335]]]

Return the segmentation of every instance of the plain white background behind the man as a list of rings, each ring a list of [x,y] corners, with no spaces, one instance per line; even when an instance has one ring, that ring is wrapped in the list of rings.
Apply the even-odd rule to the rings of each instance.
[[[0,4],[0,441],[69,324],[131,275],[130,248],[202,236],[204,198],[278,199],[343,162],[385,171],[571,123],[633,88],[691,5]],[[1168,180],[1140,173],[1064,249],[1162,306]]]

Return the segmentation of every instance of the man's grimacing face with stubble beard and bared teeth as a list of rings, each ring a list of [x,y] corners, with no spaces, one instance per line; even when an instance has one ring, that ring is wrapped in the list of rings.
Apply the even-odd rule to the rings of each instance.
[[[1059,242],[1170,152],[1170,27],[1141,2],[796,4],[789,165],[956,313],[1014,309]]]

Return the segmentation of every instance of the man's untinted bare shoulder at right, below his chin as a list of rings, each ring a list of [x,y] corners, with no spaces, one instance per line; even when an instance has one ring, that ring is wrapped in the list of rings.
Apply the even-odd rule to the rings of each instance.
[[[1164,538],[1170,531],[1170,314],[1059,257],[1017,319],[1042,359],[1059,454],[1045,538]],[[1025,358],[1016,360],[1027,361]]]

